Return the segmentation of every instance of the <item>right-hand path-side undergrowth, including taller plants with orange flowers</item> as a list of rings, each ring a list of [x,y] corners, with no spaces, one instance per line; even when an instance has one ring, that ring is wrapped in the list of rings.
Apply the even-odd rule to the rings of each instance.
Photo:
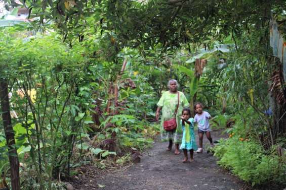
[[[286,185],[286,154],[277,151],[283,145],[276,143],[266,149],[256,138],[264,126],[256,125],[255,119],[245,122],[240,118],[233,116],[235,124],[226,130],[229,138],[221,139],[214,148],[218,164],[254,187]],[[248,127],[250,124],[252,127]]]

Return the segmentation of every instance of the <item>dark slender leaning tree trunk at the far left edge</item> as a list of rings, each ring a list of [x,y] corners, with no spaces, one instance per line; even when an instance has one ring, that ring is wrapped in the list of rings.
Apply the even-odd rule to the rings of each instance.
[[[15,146],[15,134],[13,131],[10,115],[8,83],[6,79],[0,79],[0,101],[3,126],[6,136],[6,142],[8,145],[12,190],[20,190],[19,160],[17,156],[17,149]]]

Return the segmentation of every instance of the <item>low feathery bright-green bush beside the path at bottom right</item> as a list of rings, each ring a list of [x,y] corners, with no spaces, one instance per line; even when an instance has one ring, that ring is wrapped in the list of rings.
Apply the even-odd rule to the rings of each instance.
[[[269,182],[286,184],[286,155],[279,157],[266,153],[255,141],[243,141],[235,136],[220,140],[214,155],[219,158],[219,165],[252,185]]]

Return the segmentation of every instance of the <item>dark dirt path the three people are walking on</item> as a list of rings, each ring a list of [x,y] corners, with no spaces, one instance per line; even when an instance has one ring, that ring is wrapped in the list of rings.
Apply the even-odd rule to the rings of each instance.
[[[221,136],[219,131],[212,132],[214,140]],[[208,142],[204,139],[204,145]],[[97,174],[92,180],[93,185],[87,184],[77,189],[200,189],[200,190],[231,190],[242,189],[235,178],[223,171],[216,159],[207,154],[194,154],[195,162],[182,163],[183,154],[174,155],[166,151],[167,143],[155,141],[154,147],[144,153],[140,163],[136,163],[125,171],[116,173]],[[90,180],[91,182],[91,180]],[[103,186],[104,185],[104,186]]]

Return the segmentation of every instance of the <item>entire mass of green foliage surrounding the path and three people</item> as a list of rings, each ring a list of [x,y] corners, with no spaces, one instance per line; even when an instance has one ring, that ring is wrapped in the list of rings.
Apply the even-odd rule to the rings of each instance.
[[[280,158],[265,150],[276,142],[284,146],[284,140],[278,133],[273,137],[273,116],[264,111],[270,107],[265,81],[277,67],[267,59],[268,22],[272,15],[284,20],[285,2],[20,2],[30,18],[39,19],[28,27],[0,29],[0,75],[14,89],[11,108],[19,116],[13,125],[25,189],[62,188],[55,179],[68,177],[81,157],[96,158],[104,168],[109,158],[123,164],[131,150],[151,146],[159,126],[149,121],[171,78],[189,100],[215,110],[213,125],[223,128],[231,115],[232,137],[217,147],[221,165],[254,184],[281,179]],[[49,32],[28,37],[27,28]],[[193,61],[199,57],[208,65],[198,81]],[[126,79],[136,87],[127,87]],[[32,90],[35,97],[28,95]],[[0,166],[7,171],[2,131],[0,140]],[[105,140],[114,141],[116,150],[101,148]]]

